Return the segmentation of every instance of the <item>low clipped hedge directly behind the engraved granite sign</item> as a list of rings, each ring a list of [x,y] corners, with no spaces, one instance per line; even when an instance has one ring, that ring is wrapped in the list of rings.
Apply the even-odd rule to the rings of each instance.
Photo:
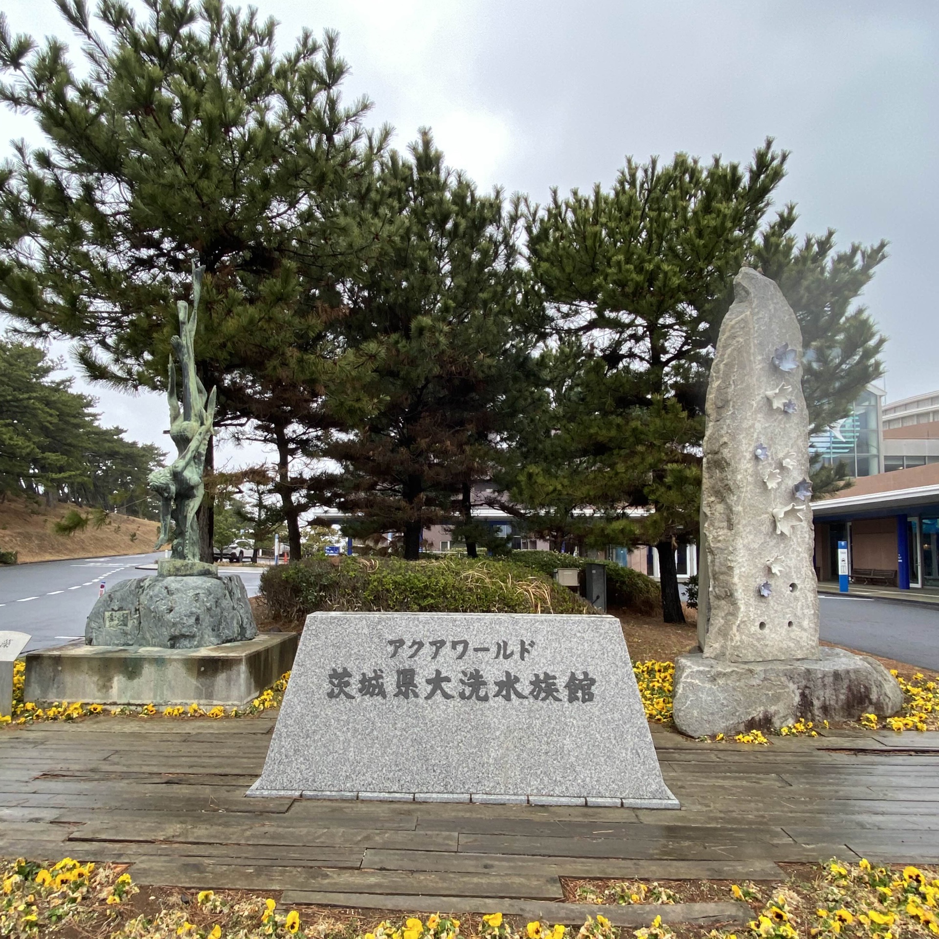
[[[269,567],[269,612],[300,620],[318,609],[450,613],[593,613],[586,601],[516,562],[444,558],[308,558]]]

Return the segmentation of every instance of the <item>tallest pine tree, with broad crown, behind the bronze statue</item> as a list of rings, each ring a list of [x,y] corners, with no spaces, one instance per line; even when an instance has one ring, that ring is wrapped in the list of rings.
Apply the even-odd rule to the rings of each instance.
[[[199,377],[218,388],[217,426],[251,421],[233,377],[276,381],[371,250],[346,204],[387,132],[362,130],[367,101],[342,103],[334,33],[278,54],[272,20],[222,0],[146,0],[140,19],[102,3],[100,23],[84,0],[58,7],[87,77],[57,40],[39,48],[0,21],[0,99],[48,142],[0,173],[0,310],[76,340],[92,378],[160,389],[195,260]],[[205,556],[208,500],[202,522]]]

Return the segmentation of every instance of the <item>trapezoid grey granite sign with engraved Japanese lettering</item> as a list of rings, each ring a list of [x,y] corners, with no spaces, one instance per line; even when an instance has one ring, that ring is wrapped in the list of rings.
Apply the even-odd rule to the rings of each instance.
[[[678,808],[619,621],[313,613],[251,795]]]

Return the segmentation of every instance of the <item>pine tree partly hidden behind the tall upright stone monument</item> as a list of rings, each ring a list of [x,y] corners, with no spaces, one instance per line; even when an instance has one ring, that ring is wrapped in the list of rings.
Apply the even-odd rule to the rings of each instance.
[[[597,186],[565,199],[554,192],[546,208],[527,213],[533,275],[559,335],[583,338],[582,375],[595,386],[584,397],[592,417],[579,421],[573,452],[588,454],[606,481],[623,480],[606,502],[602,487],[582,481],[584,498],[597,500],[584,504],[607,533],[633,532],[654,544],[666,622],[684,621],[674,550],[697,533],[701,415],[737,270],[764,265],[793,304],[817,424],[850,408],[882,368],[884,340],[852,303],[885,245],[832,257],[829,232],[799,247],[792,206],[767,219],[786,160],[769,140],[746,170],[684,154],[667,165],[629,160],[609,192]],[[617,427],[619,445],[610,436]],[[652,511],[639,523],[631,507]]]

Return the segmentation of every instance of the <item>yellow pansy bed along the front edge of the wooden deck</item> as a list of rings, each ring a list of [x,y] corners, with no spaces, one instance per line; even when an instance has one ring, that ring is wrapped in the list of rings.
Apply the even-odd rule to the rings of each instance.
[[[317,907],[279,908],[246,891],[150,888],[146,895],[126,865],[81,864],[64,858],[44,866],[19,858],[3,864],[0,936],[41,939],[809,939],[809,937],[907,937],[939,934],[939,872],[916,867],[874,867],[832,860],[799,866],[771,886],[720,881],[565,881],[565,897],[597,904],[577,928],[503,916],[401,916],[367,911],[341,914]],[[736,930],[669,926],[661,916],[638,930],[617,929],[602,904],[670,905],[683,901],[736,900],[753,918]]]

